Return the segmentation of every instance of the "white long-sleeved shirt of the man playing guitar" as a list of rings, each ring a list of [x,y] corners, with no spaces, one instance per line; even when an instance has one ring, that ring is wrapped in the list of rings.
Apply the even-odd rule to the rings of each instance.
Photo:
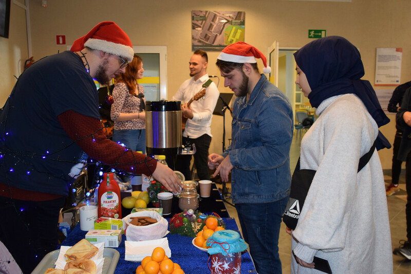
[[[189,102],[196,93],[203,89],[202,85],[209,79],[209,75],[204,74],[197,81],[194,81],[194,77],[184,81],[173,96],[173,101]],[[204,97],[191,103],[190,108],[194,116],[193,119],[187,119],[183,132],[184,137],[196,139],[203,134],[208,134],[212,137],[211,119],[213,118],[213,111],[219,95],[220,92],[213,82],[206,88],[206,95]]]

